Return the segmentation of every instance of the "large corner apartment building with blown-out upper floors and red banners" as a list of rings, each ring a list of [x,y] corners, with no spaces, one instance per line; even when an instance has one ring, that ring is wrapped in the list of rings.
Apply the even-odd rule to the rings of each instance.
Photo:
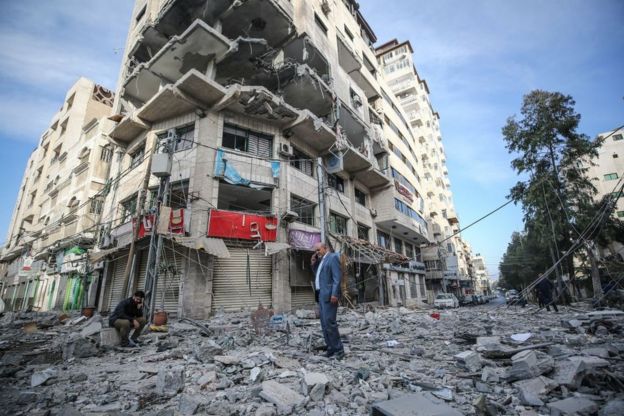
[[[425,257],[458,228],[450,199],[433,202],[450,191],[421,184],[439,131],[414,128],[376,41],[353,0],[137,0],[102,120],[114,156],[89,302],[146,286],[154,232],[155,306],[179,317],[312,305],[322,231],[353,302],[450,291]]]

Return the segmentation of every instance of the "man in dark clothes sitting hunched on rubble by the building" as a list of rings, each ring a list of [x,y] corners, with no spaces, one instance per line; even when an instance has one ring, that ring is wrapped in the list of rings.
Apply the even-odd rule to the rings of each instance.
[[[134,296],[119,302],[108,318],[108,324],[116,328],[121,335],[122,347],[136,347],[138,344],[139,335],[147,323],[143,318],[143,299],[145,299],[145,293],[137,290]],[[128,338],[132,328],[134,328],[134,333],[132,338]]]

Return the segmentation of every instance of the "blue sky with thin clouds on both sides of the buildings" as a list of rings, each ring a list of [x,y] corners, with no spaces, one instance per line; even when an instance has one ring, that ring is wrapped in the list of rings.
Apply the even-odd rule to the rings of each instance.
[[[3,1],[0,15],[0,241],[28,155],[80,76],[114,89],[131,0]],[[301,0],[298,0],[301,1]],[[624,124],[624,2],[362,0],[379,41],[409,39],[440,113],[455,204],[467,225],[517,180],[500,134],[522,95],[572,95],[590,136]],[[508,206],[464,232],[490,274],[511,233]]]

